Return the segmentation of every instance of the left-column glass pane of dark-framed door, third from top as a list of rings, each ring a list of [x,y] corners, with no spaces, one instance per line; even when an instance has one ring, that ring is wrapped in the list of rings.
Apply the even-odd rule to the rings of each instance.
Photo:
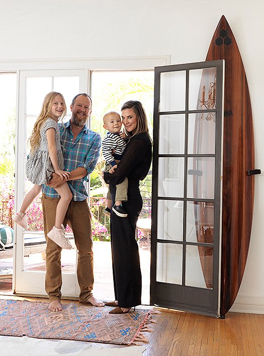
[[[158,195],[183,197],[184,157],[160,157],[158,160]]]

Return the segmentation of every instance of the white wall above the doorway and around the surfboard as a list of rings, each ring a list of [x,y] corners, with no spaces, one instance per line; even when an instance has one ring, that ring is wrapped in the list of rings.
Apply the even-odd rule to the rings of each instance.
[[[10,61],[171,55],[204,61],[221,17],[236,37],[251,95],[256,168],[250,251],[236,311],[264,313],[263,0],[0,0],[0,70]],[[3,65],[3,66],[2,66]],[[1,100],[1,98],[0,98]]]

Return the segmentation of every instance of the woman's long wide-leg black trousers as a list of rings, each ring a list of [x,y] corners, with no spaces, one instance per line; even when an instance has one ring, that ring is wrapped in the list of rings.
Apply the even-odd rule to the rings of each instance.
[[[111,186],[114,204],[115,186]],[[115,300],[121,308],[141,304],[142,278],[139,247],[136,241],[136,225],[142,209],[142,197],[138,181],[128,181],[127,201],[123,202],[126,218],[111,212],[111,248]]]

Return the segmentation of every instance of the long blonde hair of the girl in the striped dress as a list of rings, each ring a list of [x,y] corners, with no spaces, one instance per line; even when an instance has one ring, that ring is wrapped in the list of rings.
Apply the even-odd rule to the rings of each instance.
[[[32,130],[32,134],[28,139],[29,144],[30,144],[30,152],[35,152],[39,147],[41,127],[42,127],[43,123],[47,120],[47,118],[51,117],[50,110],[51,110],[52,104],[54,102],[54,99],[57,95],[59,95],[61,97],[62,102],[64,104],[64,111],[63,111],[62,115],[60,116],[61,120],[66,115],[66,104],[65,104],[63,95],[58,92],[50,92],[49,94],[47,94],[43,100],[41,112],[36,120],[36,123]]]

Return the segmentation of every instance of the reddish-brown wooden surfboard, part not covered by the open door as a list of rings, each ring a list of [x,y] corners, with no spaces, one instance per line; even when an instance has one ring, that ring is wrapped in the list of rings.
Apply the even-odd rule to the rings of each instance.
[[[254,203],[254,134],[246,73],[224,16],[206,61],[225,60],[220,314],[233,305],[245,270]]]

